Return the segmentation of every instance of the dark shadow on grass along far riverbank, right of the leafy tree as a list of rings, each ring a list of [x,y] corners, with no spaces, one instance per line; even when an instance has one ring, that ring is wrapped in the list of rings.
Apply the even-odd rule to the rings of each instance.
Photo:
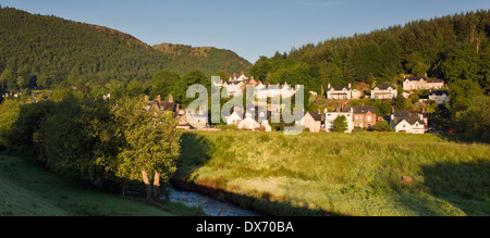
[[[310,209],[306,202],[293,204],[285,199],[271,201],[269,192],[254,195],[238,193],[238,188],[226,186],[226,179],[217,177],[212,179],[196,179],[194,172],[206,164],[210,159],[212,145],[204,136],[184,133],[181,137],[181,158],[177,162],[177,172],[171,179],[175,188],[199,192],[215,199],[231,202],[244,209],[274,216],[320,216],[332,215],[319,209]],[[278,198],[274,198],[277,200]]]

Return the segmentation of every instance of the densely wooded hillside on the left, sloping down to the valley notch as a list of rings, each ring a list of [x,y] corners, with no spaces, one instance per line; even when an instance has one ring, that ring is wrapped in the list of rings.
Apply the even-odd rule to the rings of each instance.
[[[168,53],[108,27],[0,9],[0,73],[9,70],[27,82],[37,80],[40,88],[63,79],[72,86],[97,87],[111,80],[148,82],[161,70],[179,74],[199,70],[211,75],[247,71],[250,65],[230,50],[208,51]]]

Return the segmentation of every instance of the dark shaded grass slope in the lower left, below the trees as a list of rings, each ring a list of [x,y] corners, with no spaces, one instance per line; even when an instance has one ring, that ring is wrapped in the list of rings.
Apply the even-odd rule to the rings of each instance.
[[[172,216],[201,209],[162,201],[160,206],[123,198],[51,174],[29,161],[0,155],[0,215]]]

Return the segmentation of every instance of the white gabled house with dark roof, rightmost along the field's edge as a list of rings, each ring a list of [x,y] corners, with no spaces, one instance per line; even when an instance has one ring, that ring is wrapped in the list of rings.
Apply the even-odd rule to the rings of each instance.
[[[390,115],[390,126],[396,133],[424,134],[428,125],[426,113],[394,111]]]

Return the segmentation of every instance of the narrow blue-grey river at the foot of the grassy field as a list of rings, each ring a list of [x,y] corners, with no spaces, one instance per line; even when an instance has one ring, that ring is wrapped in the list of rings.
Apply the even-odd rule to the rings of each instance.
[[[197,192],[174,188],[171,188],[170,191],[169,199],[171,201],[181,202],[188,206],[200,205],[205,213],[210,216],[218,216],[224,205],[224,210],[220,216],[264,216],[264,214],[243,209],[229,202],[222,202]]]

